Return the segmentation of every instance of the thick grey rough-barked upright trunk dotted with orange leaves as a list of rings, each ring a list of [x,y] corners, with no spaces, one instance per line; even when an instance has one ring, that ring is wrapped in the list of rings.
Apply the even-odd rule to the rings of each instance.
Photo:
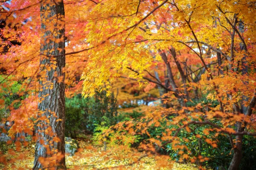
[[[65,165],[64,3],[41,3],[40,91],[33,170],[67,169]],[[57,57],[46,57],[57,56]]]

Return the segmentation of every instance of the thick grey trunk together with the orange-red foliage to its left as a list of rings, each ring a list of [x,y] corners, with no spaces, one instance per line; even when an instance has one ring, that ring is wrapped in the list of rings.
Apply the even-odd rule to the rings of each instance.
[[[20,101],[18,109],[9,107],[11,115],[8,120],[14,122],[9,135],[12,137],[21,132],[32,135],[34,130],[36,147],[33,169],[66,169],[64,3],[51,0],[1,3],[5,9],[1,18],[6,23],[1,30],[4,40],[2,47],[6,49],[8,46],[8,50],[2,51],[1,57],[1,65],[6,70],[4,80],[12,77],[8,80],[21,81],[18,95],[27,95],[26,100]],[[33,15],[28,10],[35,10],[39,15]],[[34,25],[34,28],[29,25]],[[12,41],[20,42],[20,46],[9,44]],[[36,125],[36,130],[32,124]],[[22,138],[24,140],[24,136]],[[20,138],[17,140],[19,143]]]

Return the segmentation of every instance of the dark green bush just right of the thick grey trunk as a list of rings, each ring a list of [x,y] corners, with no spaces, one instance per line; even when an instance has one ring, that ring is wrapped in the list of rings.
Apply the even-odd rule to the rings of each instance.
[[[77,133],[93,133],[96,124],[101,124],[103,116],[111,124],[116,124],[117,105],[113,95],[106,97],[105,93],[96,93],[93,98],[83,98],[76,95],[66,98],[66,136],[76,137]]]

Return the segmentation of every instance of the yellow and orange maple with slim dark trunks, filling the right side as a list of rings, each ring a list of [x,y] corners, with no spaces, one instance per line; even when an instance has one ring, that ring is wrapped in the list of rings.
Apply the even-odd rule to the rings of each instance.
[[[230,138],[233,159],[229,169],[236,170],[242,158],[243,135],[256,135],[253,133],[256,103],[254,12],[253,1],[102,1],[88,16],[94,22],[87,24],[90,58],[82,75],[83,94],[92,96],[94,90],[103,85],[109,94],[110,82],[127,70],[132,71],[130,78],[147,80],[144,70],[163,60],[170,88],[170,93],[164,95],[165,101],[177,100],[179,105],[176,110],[163,110],[163,114],[175,115],[169,123],[176,124],[178,129],[169,130],[159,140],[166,143],[152,139],[152,144],[163,147],[172,143],[174,148],[184,148],[175,142],[180,130],[190,131],[192,124],[207,124],[204,139],[212,147],[216,147],[216,141],[207,138],[207,131],[215,132],[216,136],[224,133]],[[198,58],[198,63],[194,63],[197,68],[181,66],[177,56],[180,58],[185,49],[189,49],[193,58]],[[172,61],[180,80],[175,80]],[[205,71],[203,75],[201,66]],[[189,69],[188,74],[184,69]],[[218,105],[207,109],[202,108],[203,104],[187,107],[186,101],[198,90],[207,94],[207,99],[218,101]],[[156,116],[149,122],[159,126],[156,122],[160,118]],[[215,120],[221,124],[216,124]],[[142,130],[140,128],[136,130]],[[144,133],[146,128],[142,130]],[[189,159],[190,151],[180,154]],[[195,159],[190,157],[191,161]],[[198,160],[204,159],[199,157]]]

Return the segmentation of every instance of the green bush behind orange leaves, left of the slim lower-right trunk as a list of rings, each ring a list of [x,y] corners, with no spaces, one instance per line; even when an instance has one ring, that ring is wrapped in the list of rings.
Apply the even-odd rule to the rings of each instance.
[[[163,136],[163,133],[167,133],[166,129],[177,129],[176,125],[167,126],[168,119],[160,121],[159,127],[154,127],[154,124],[148,128],[148,133],[150,138],[155,138],[160,140]],[[172,160],[179,161],[180,154],[179,151],[188,153],[191,157],[198,157],[200,154],[203,157],[209,158],[208,161],[203,162],[202,164],[206,167],[219,169],[220,167],[227,167],[231,161],[231,145],[229,143],[229,138],[227,135],[219,135],[215,137],[215,133],[210,132],[209,135],[205,135],[203,130],[209,128],[209,126],[201,125],[190,125],[189,128],[192,132],[187,132],[186,130],[180,130],[177,137],[179,138],[179,144],[185,145],[191,153],[188,153],[186,149],[174,150],[172,144],[167,144],[165,148],[160,150],[160,153],[169,155]],[[172,133],[174,135],[174,133]],[[201,138],[197,138],[195,135],[200,135]],[[204,137],[212,138],[214,141],[219,141],[218,147],[213,148],[210,144],[204,141]],[[148,139],[148,135],[143,135],[143,139]],[[184,140],[186,139],[186,141]]]

